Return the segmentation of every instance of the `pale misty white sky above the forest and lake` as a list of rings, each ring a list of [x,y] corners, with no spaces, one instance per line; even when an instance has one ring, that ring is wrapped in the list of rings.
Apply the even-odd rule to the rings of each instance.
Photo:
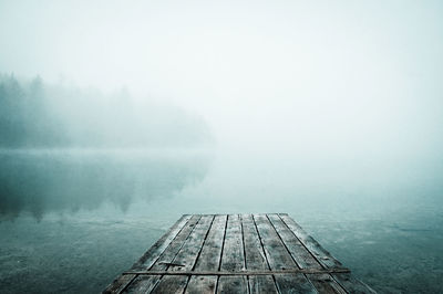
[[[219,144],[440,154],[442,1],[4,1],[0,72],[172,101]]]

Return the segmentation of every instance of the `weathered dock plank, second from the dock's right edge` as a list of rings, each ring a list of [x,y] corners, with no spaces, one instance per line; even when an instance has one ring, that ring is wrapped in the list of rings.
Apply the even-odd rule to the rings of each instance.
[[[268,214],[268,219],[300,269],[323,269],[278,214]],[[320,293],[346,293],[330,275],[309,274],[306,276]]]

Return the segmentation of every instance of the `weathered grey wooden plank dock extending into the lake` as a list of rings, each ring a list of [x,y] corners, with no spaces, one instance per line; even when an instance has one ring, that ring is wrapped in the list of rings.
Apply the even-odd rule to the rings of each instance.
[[[183,216],[104,293],[374,293],[286,213]]]

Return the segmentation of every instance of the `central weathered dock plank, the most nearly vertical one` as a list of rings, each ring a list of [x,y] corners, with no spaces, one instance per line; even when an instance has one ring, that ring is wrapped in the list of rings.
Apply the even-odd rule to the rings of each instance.
[[[222,252],[222,271],[245,270],[241,223],[238,214],[229,214]],[[217,293],[248,293],[246,276],[220,276]]]

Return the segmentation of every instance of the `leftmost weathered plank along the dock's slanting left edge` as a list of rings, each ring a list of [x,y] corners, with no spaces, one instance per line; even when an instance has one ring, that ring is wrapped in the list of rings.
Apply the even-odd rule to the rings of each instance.
[[[169,245],[172,240],[185,227],[186,222],[192,216],[184,214],[179,218],[173,227],[161,238],[148,251],[133,265],[133,269],[144,270],[151,266],[162,254],[162,252]],[[103,293],[120,293],[135,279],[135,275],[125,274],[115,279]]]

